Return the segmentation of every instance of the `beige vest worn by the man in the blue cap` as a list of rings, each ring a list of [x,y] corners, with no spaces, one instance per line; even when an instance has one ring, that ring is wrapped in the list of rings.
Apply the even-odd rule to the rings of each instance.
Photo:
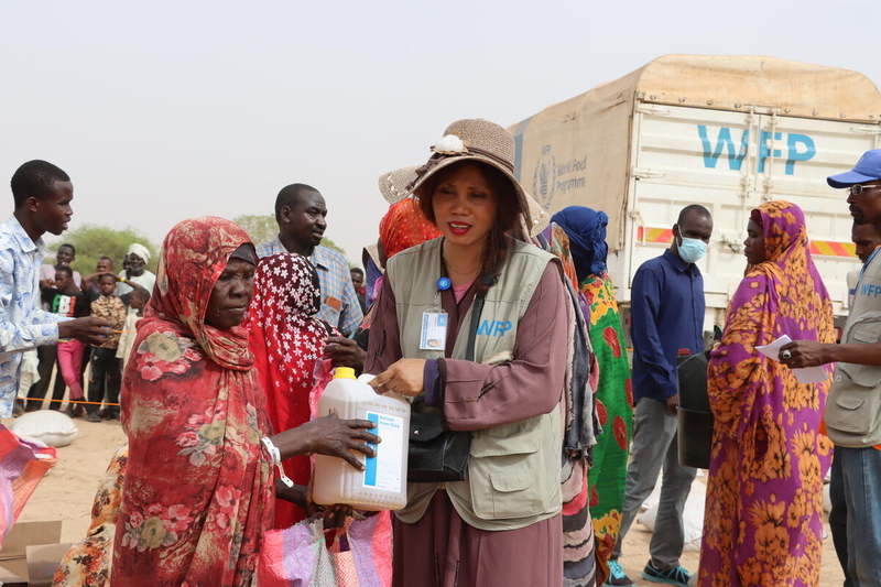
[[[857,283],[841,344],[881,340],[881,254],[866,265]],[[881,367],[839,362],[826,402],[826,430],[838,446],[881,444]]]

